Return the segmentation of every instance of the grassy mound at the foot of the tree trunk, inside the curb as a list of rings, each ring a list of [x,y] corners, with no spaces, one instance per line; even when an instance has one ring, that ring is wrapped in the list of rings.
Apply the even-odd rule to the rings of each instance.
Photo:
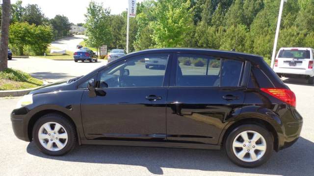
[[[4,71],[0,71],[0,90],[36,88],[42,85],[43,81],[33,78],[20,70],[7,68]]]

